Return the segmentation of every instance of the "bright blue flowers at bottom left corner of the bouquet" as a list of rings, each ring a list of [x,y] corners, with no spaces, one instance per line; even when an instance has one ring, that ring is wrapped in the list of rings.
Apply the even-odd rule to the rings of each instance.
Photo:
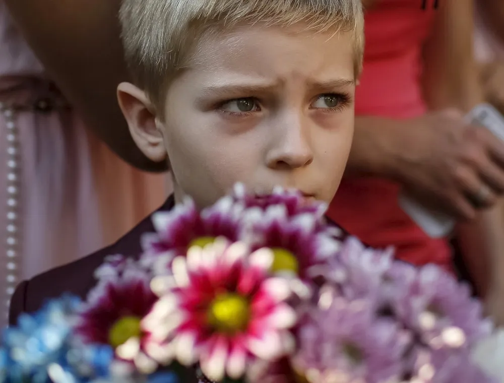
[[[7,328],[0,348],[0,382],[79,383],[107,376],[112,350],[73,340],[80,304],[73,296],[54,299],[33,315],[21,315],[17,327]]]

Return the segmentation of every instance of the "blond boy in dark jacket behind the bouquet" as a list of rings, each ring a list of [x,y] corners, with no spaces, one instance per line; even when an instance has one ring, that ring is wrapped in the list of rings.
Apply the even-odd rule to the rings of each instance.
[[[353,135],[360,0],[124,0],[134,84],[118,99],[138,147],[168,160],[174,196],[208,206],[241,181],[329,203]],[[109,254],[138,257],[147,218],[115,244],[17,289],[10,322],[64,292],[85,297]]]

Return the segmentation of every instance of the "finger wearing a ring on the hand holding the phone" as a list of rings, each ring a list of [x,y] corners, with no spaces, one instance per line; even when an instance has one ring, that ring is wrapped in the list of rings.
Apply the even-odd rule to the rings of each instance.
[[[492,206],[496,201],[495,193],[489,186],[481,182],[474,170],[466,166],[460,166],[455,173],[456,179],[463,190],[467,201],[476,209]],[[482,196],[482,190],[485,195]]]

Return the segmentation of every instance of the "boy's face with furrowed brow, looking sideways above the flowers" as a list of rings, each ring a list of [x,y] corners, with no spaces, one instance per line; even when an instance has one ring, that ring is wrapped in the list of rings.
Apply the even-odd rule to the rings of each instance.
[[[151,159],[166,149],[177,200],[208,206],[240,181],[258,194],[280,185],[330,202],[353,136],[351,36],[237,28],[198,45],[162,118],[141,112],[146,98],[127,84],[119,101],[141,149]]]

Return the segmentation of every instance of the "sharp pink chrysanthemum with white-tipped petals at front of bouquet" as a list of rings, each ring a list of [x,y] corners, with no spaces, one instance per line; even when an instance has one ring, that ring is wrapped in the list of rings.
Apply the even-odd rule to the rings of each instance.
[[[198,361],[219,381],[242,376],[251,361],[288,352],[296,315],[285,303],[288,281],[269,276],[272,262],[269,249],[250,253],[245,244],[223,239],[177,257],[172,277],[153,280],[172,287],[143,322],[151,333],[149,355],[164,364]]]

